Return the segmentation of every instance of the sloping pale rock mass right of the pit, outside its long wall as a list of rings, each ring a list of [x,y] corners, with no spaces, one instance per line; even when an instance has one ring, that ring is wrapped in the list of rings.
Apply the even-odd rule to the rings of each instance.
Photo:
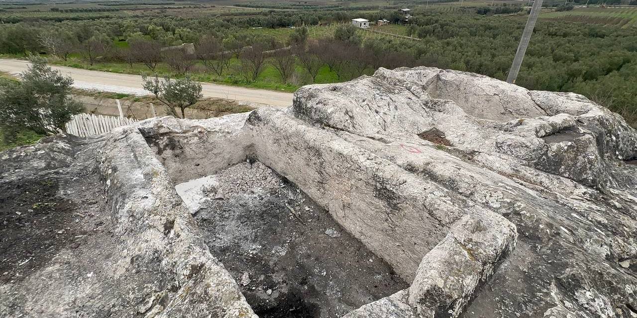
[[[619,115],[429,67],[304,86],[288,111],[517,226],[464,317],[637,315],[637,132]]]

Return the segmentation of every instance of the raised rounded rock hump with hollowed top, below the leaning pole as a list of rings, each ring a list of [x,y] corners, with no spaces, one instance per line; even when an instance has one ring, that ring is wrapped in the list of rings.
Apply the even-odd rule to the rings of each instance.
[[[528,91],[430,67],[381,68],[373,77],[304,86],[291,111],[297,118],[371,137],[409,140],[436,128],[457,148],[505,155],[602,190],[617,182],[609,160],[637,156],[634,129],[581,95]]]

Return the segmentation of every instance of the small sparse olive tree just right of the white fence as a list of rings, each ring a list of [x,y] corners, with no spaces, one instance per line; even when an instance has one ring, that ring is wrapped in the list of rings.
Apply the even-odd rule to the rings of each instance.
[[[194,105],[201,99],[201,84],[190,78],[183,79],[160,79],[157,75],[154,78],[142,76],[143,88],[153,93],[157,99],[166,105],[168,112],[177,118],[186,118],[186,108]],[[177,109],[181,110],[181,117]]]

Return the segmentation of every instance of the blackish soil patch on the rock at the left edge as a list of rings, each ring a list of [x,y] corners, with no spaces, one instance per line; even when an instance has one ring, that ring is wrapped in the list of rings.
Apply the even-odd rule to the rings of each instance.
[[[7,273],[1,282],[24,278],[86,234],[68,227],[76,206],[57,191],[59,181],[51,174],[0,183],[0,272]]]

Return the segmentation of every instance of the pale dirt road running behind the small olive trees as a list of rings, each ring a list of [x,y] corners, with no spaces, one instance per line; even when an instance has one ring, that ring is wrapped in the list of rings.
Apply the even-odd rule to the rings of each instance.
[[[27,66],[28,62],[24,60],[0,59],[0,71],[11,74],[26,71]],[[76,88],[135,95],[147,95],[150,93],[141,88],[141,76],[139,75],[89,71],[63,66],[52,66],[52,68],[61,71],[62,74],[71,76],[75,80],[73,86]],[[292,93],[210,83],[201,83],[201,86],[203,88],[201,93],[203,93],[204,97],[268,104],[279,108],[292,105]]]

